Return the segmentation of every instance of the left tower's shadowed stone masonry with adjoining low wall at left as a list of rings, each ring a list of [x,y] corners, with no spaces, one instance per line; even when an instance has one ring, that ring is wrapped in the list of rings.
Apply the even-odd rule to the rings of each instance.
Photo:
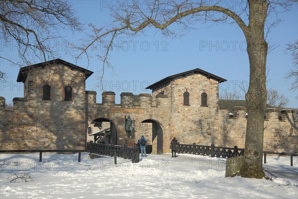
[[[50,85],[51,100],[43,100]],[[64,88],[72,87],[72,100]],[[0,149],[84,149],[85,75],[64,65],[33,68],[25,80],[24,96],[14,98],[13,111],[0,111]]]

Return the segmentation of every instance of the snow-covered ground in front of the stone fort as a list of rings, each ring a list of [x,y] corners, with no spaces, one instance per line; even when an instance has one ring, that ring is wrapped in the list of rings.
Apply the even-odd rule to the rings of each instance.
[[[178,154],[148,155],[137,164],[77,154],[0,154],[0,199],[6,198],[298,198],[298,157],[267,156],[271,180],[224,178],[225,159]],[[10,183],[26,173],[32,182]],[[20,179],[18,179],[20,180]]]

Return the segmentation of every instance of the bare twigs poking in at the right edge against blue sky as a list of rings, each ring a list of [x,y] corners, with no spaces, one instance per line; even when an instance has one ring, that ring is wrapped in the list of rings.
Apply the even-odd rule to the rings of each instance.
[[[294,79],[291,90],[296,91],[298,89],[298,40],[293,44],[287,44],[286,51],[291,53],[294,67],[286,74],[285,79]]]

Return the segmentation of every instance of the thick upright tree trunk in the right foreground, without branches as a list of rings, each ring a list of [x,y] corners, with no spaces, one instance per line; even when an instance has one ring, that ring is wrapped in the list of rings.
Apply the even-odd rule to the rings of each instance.
[[[264,177],[263,137],[266,108],[266,58],[268,44],[264,39],[264,24],[268,2],[249,0],[249,25],[245,35],[250,64],[249,88],[246,94],[247,127],[244,160],[240,175],[245,178]]]

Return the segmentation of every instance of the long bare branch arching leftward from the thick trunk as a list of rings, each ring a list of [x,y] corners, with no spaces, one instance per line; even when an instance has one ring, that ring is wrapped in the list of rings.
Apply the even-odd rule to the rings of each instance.
[[[221,0],[216,2],[215,5],[204,5],[206,1],[190,0],[147,1],[149,7],[148,12],[142,10],[137,1],[132,2],[134,3],[134,6],[126,7],[121,11],[114,10],[114,14],[112,16],[114,17],[114,22],[118,23],[118,25],[113,25],[110,29],[108,27],[97,29],[94,25],[90,24],[89,26],[92,27],[93,32],[93,35],[89,35],[90,39],[84,40],[83,44],[80,46],[72,44],[73,48],[80,51],[75,58],[78,59],[83,54],[88,57],[88,50],[99,50],[97,46],[98,43],[107,43],[103,40],[105,38],[109,38],[109,41],[111,41],[111,38],[115,39],[115,32],[119,32],[124,35],[136,35],[139,32],[142,32],[146,27],[150,26],[161,30],[166,36],[175,36],[176,33],[169,29],[169,26],[173,23],[180,24],[183,29],[190,29],[191,27],[189,24],[197,20],[220,22],[226,21],[227,17],[231,17],[237,22],[244,34],[248,32],[247,25],[239,17],[239,15],[227,8],[216,5],[221,2]],[[198,6],[195,7],[194,5]],[[113,8],[110,9],[113,10]],[[216,15],[214,12],[223,13],[224,16]],[[101,60],[105,61],[103,63],[103,67],[105,64],[110,66],[107,63],[109,60],[108,52],[110,47],[110,45],[106,45],[103,52],[104,56],[98,56]]]

